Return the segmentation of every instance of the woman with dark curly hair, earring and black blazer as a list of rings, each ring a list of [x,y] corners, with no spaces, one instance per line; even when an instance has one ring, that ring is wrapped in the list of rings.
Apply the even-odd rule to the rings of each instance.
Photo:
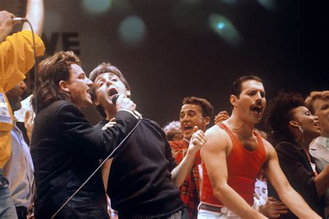
[[[300,94],[281,91],[269,103],[267,123],[273,129],[274,140],[280,142],[276,152],[289,183],[314,211],[324,217],[323,194],[329,186],[329,166],[319,173],[309,152],[312,140],[321,135],[318,117],[305,107]],[[271,184],[269,195],[278,198]],[[280,218],[296,216],[289,211]]]

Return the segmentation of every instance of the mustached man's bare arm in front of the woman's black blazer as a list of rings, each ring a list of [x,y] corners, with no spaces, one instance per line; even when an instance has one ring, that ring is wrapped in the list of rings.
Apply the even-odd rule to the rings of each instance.
[[[267,141],[264,141],[264,145],[267,150],[267,162],[264,165],[264,171],[267,175],[267,179],[269,179],[269,182],[271,182],[274,189],[276,189],[280,200],[282,200],[298,218],[321,218],[310,209],[301,195],[292,189],[287,177],[285,177],[285,174],[280,168],[278,155],[273,146]]]

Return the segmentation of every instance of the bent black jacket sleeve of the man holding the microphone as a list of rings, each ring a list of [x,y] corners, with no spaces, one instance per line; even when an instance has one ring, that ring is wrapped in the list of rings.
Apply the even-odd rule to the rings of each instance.
[[[85,119],[83,113],[71,103],[61,105],[56,113],[56,123],[60,124],[60,137],[62,141],[66,141],[71,145],[71,148],[68,149],[85,156],[88,155],[100,159],[108,157],[110,152],[117,148],[119,143],[123,141],[124,137],[126,137],[137,124],[135,116],[126,111],[117,112],[115,119],[115,125],[100,131],[94,128],[89,121]],[[37,121],[35,121],[35,123],[37,123]],[[34,131],[33,129],[33,132]],[[37,139],[34,140],[37,142]],[[119,150],[117,150],[117,152],[119,152]]]

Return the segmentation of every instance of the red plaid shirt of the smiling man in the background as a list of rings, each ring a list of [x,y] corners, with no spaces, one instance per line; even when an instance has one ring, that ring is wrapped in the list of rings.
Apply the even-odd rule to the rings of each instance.
[[[180,164],[187,153],[189,143],[186,140],[169,141],[169,143],[173,157],[175,157],[177,164]],[[185,181],[180,186],[180,198],[183,200],[185,207],[187,208],[189,218],[198,217],[198,205],[200,203],[199,164],[201,164],[200,151],[196,153],[191,173],[187,175]]]

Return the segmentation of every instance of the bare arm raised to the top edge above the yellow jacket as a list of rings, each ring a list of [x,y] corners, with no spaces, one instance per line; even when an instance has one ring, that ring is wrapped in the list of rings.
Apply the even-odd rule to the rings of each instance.
[[[41,36],[44,27],[44,1],[28,0],[26,6],[26,18],[30,21],[34,33]],[[31,30],[31,28],[27,23],[24,23],[22,30]]]

